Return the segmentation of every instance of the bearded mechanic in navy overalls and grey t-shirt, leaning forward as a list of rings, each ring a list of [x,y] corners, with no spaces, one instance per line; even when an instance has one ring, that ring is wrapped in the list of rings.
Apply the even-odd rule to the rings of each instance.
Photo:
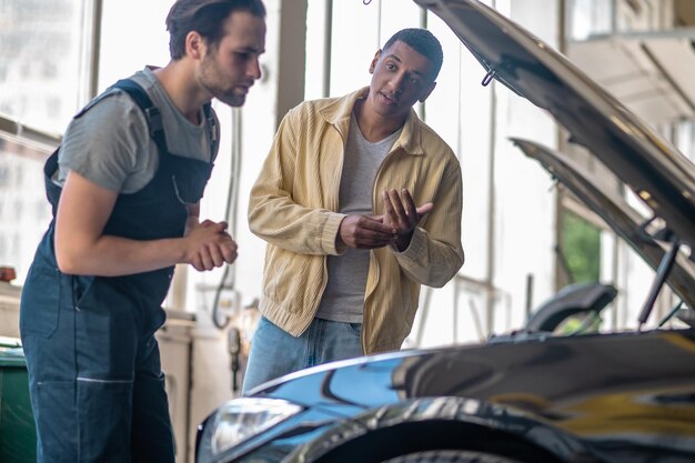
[[[179,0],[171,61],[70,123],[46,165],[53,220],[22,292],[20,330],[39,462],[174,462],[154,332],[177,263],[236,259],[199,223],[218,150],[212,98],[240,107],[260,78],[261,0]]]

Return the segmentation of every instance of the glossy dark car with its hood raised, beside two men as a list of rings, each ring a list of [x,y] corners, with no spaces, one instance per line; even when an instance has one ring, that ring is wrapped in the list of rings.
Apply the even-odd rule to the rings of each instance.
[[[614,295],[580,288],[546,304],[544,320],[484,344],[296,372],[215,410],[199,426],[198,463],[694,462],[695,167],[495,10],[475,0],[415,2],[449,24],[485,82],[547,110],[648,208],[645,221],[572,158],[513,140],[655,270],[639,329],[552,335],[557,320],[600,311]],[[685,323],[647,330],[664,284],[681,300],[669,316]]]

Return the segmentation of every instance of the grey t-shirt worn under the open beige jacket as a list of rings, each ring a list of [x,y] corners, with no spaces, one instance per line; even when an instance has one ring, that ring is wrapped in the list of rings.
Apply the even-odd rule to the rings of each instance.
[[[354,113],[343,157],[339,203],[344,214],[371,214],[374,179],[401,131],[377,142],[367,141],[360,131]],[[319,319],[361,323],[364,292],[370,268],[370,250],[349,248],[341,255],[328,256],[329,281],[321,298]]]

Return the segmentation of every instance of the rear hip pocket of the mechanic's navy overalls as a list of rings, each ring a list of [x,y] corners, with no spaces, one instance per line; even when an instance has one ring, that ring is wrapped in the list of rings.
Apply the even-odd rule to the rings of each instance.
[[[33,264],[22,289],[19,330],[24,334],[50,338],[58,328],[60,310],[60,271]]]

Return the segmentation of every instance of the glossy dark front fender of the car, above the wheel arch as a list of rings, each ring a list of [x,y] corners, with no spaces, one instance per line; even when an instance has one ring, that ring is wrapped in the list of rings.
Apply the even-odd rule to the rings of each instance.
[[[365,427],[449,413],[462,422],[479,419],[486,426],[543,441],[562,461],[685,462],[695,455],[694,335],[688,330],[547,336],[402,351],[304,370],[252,395],[290,401],[313,413],[278,433],[312,432],[308,424],[318,423],[318,412],[333,422],[330,433],[299,450],[295,455],[302,457],[286,460],[292,462],[316,461],[322,447],[339,445]],[[419,411],[421,400],[437,397],[443,399],[437,405]],[[486,405],[498,412],[481,413]],[[538,426],[522,424],[517,412]],[[555,432],[566,439],[557,441]],[[578,452],[577,442],[602,457]]]

